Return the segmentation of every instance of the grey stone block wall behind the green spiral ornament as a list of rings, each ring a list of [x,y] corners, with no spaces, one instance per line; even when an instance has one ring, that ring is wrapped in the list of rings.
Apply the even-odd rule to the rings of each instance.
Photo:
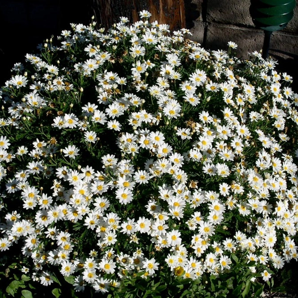
[[[264,32],[255,28],[249,14],[250,0],[184,0],[186,24],[192,39],[206,49],[227,49],[228,41],[238,44],[238,55],[260,51]],[[271,35],[269,55],[279,61],[280,71],[297,78],[298,3],[294,17],[284,30]]]

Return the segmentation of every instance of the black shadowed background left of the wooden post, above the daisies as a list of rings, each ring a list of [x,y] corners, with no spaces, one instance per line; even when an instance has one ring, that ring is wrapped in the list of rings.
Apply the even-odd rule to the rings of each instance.
[[[70,30],[70,23],[88,25],[92,16],[89,1],[74,5],[70,0],[1,0],[0,86],[10,79],[13,65],[24,62],[38,44]]]

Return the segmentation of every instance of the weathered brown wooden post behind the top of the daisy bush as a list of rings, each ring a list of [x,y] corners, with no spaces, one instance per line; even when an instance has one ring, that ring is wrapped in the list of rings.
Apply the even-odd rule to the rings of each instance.
[[[150,21],[170,25],[170,30],[186,28],[184,0],[91,0],[94,21],[110,28],[119,18],[127,17],[131,22],[139,21],[139,11],[148,10]]]

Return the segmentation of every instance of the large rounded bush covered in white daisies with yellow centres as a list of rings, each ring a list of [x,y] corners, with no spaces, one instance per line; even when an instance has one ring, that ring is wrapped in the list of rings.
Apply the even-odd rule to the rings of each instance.
[[[56,297],[62,276],[74,297],[257,297],[297,260],[291,77],[140,16],[108,32],[72,24],[15,64],[0,257],[13,250],[22,281]]]

